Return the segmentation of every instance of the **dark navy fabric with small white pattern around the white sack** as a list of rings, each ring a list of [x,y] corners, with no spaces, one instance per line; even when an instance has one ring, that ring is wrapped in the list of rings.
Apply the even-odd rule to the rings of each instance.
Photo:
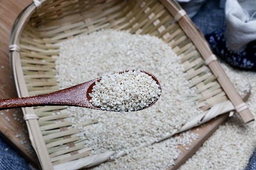
[[[225,29],[222,28],[205,35],[212,52],[234,67],[256,70],[256,41],[250,42],[244,49],[232,51],[227,47],[224,33]]]

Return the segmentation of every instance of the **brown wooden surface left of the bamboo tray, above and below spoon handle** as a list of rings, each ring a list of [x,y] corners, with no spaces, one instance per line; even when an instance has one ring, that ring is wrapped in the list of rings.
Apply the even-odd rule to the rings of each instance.
[[[18,14],[30,3],[32,0],[0,0],[0,99],[17,97],[9,63],[9,37]],[[26,160],[35,162],[21,109],[0,111],[0,133]]]

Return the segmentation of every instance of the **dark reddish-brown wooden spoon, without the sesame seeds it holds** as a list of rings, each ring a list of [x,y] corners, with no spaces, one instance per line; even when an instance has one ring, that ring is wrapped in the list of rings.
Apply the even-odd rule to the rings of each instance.
[[[157,84],[160,86],[157,78],[152,74],[141,71],[154,79]],[[119,72],[119,74],[123,73]],[[0,99],[0,110],[12,109],[12,108],[25,108],[25,107],[33,107],[33,106],[47,106],[47,105],[66,105],[66,106],[78,106],[83,108],[92,108],[102,110],[99,107],[93,106],[90,103],[91,97],[89,93],[92,93],[93,86],[96,81],[100,81],[101,78],[93,79],[88,82],[84,82],[79,85],[72,86],[70,88],[65,88],[63,90],[55,91],[48,94],[42,94],[38,96],[29,96],[29,97],[20,97],[14,99]],[[161,90],[161,86],[159,87]],[[157,102],[157,99],[154,100],[148,107]],[[148,108],[144,107],[142,109]],[[142,110],[141,109],[141,110]]]

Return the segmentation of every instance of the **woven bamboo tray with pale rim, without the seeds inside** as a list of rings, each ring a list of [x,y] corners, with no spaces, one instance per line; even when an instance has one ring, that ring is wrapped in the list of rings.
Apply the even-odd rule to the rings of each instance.
[[[236,110],[244,122],[254,119],[204,36],[186,12],[175,1],[169,0],[34,0],[15,21],[10,37],[10,59],[18,95],[32,96],[59,90],[54,71],[59,53],[56,44],[102,28],[150,34],[162,39],[180,57],[191,87],[198,88],[198,95],[191,100],[198,101],[197,107],[204,113],[155,142],[227,111]],[[111,152],[89,156],[90,148],[84,148],[84,141],[72,137],[79,130],[65,121],[68,116],[66,107],[23,108],[23,113],[42,169],[79,169],[110,158]],[[55,121],[62,123],[51,123]],[[93,123],[84,122],[83,126]]]

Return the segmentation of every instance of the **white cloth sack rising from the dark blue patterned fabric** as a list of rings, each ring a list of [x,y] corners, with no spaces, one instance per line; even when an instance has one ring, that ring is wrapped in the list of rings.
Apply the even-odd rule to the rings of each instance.
[[[256,40],[256,0],[227,0],[226,42],[232,51],[239,51]]]

